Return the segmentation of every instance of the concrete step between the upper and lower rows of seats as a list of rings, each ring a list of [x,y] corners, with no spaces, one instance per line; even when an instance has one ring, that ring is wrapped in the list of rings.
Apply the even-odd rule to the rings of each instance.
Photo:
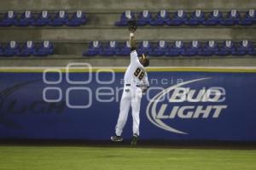
[[[41,29],[0,29],[0,42],[15,40],[26,42],[27,40],[52,42],[89,42],[92,40],[119,40],[126,41],[129,38],[127,28],[41,28]],[[147,27],[139,28],[136,32],[139,41],[149,40],[241,40],[256,39],[256,31],[253,27],[233,28],[176,28],[176,27]]]

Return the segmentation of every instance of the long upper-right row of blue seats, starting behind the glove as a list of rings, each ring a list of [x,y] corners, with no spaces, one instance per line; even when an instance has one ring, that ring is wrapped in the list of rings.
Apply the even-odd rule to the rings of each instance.
[[[229,12],[213,10],[204,12],[200,9],[192,13],[180,9],[170,13],[160,10],[157,14],[148,10],[137,14],[126,10],[120,16],[120,20],[115,22],[115,26],[127,26],[127,20],[137,20],[138,26],[251,26],[256,24],[256,14],[254,9],[248,11],[238,11],[231,9]]]

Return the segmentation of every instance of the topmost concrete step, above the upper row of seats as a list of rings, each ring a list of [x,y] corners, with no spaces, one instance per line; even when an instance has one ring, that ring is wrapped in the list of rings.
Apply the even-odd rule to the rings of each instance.
[[[255,0],[17,0],[3,1],[0,10],[56,10],[56,9],[83,9],[87,11],[115,11],[121,12],[125,9],[134,10],[160,10],[165,9],[245,9],[256,8]]]

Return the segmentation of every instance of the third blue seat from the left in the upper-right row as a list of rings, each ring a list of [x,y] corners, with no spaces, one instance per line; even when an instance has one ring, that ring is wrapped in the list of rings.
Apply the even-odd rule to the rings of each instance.
[[[164,26],[167,25],[167,22],[171,20],[170,18],[170,14],[168,12],[166,12],[166,10],[160,10],[160,12],[158,12],[154,18],[154,20],[152,20],[150,22],[151,26]]]

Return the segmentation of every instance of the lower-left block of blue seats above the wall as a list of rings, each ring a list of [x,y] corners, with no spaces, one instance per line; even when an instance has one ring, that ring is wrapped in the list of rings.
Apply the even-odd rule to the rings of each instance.
[[[11,41],[8,44],[0,44],[0,56],[12,57],[28,57],[28,56],[48,56],[54,54],[54,46],[49,41],[37,42],[27,41],[18,43]]]

